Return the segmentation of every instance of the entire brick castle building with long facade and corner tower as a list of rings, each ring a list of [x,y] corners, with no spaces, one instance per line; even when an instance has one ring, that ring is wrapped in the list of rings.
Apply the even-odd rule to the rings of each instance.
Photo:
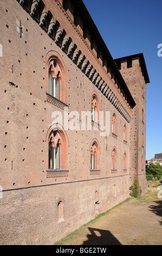
[[[147,191],[150,81],[142,53],[112,58],[81,0],[0,5],[0,244],[51,245],[128,198],[135,178]]]

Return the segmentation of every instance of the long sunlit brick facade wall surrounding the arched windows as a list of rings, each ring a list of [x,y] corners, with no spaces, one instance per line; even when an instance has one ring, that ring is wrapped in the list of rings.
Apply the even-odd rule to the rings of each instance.
[[[102,79],[112,88],[128,114],[132,115],[131,108],[86,41],[81,38],[61,5],[58,5],[57,1],[47,0],[44,4],[46,9],[53,13],[55,20],[60,22],[60,27],[72,36],[77,48],[86,55]],[[2,71],[0,185],[3,187],[3,199],[0,199],[0,221],[3,232],[0,243],[52,244],[92,220],[96,214],[96,201],[99,201],[100,210],[104,212],[129,197],[129,186],[132,182],[129,174],[135,173],[134,169],[132,172],[132,168],[137,168],[135,167],[137,164],[131,166],[135,155],[133,150],[129,150],[129,147],[134,147],[129,135],[134,136],[135,130],[132,133],[132,123],[129,124],[125,120],[16,0],[12,4],[9,0],[2,1],[1,17],[2,42],[0,43],[3,45],[3,58],[0,59]],[[22,22],[22,38],[16,30],[16,20]],[[101,137],[100,130],[65,131],[68,175],[54,175],[53,178],[47,178],[47,135],[53,121],[51,114],[53,111],[61,111],[63,114],[63,110],[47,102],[46,56],[50,51],[56,52],[66,69],[64,97],[66,102],[64,103],[69,105],[69,113],[77,111],[81,114],[81,111],[91,111],[91,97],[96,91],[100,101],[100,111],[110,111],[111,120],[115,112],[117,120],[117,136],[110,132],[109,136]],[[139,80],[142,82],[142,77]],[[127,142],[124,142],[123,134],[125,124]],[[139,125],[142,126],[141,123]],[[110,131],[112,131],[112,122]],[[141,128],[138,132],[140,131]],[[140,133],[138,134],[137,140],[141,138]],[[90,143],[94,138],[98,139],[100,146],[98,174],[90,172]],[[115,172],[111,170],[114,147],[117,152]],[[137,147],[135,150],[138,152]],[[144,150],[141,149],[141,152]],[[125,152],[127,170],[124,170]],[[141,157],[141,152],[138,159]],[[139,174],[143,175],[142,172]],[[95,197],[96,191],[98,198]],[[60,201],[64,205],[62,222],[59,222],[57,216],[57,205]]]

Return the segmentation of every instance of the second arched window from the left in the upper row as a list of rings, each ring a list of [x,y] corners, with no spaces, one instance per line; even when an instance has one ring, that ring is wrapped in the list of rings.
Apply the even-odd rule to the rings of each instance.
[[[92,93],[91,97],[91,117],[92,121],[99,123],[99,112],[100,112],[100,102],[96,92]]]

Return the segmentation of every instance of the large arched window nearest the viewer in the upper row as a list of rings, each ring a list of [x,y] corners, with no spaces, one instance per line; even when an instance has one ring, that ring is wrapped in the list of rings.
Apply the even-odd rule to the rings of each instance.
[[[48,93],[60,100],[61,70],[59,65],[51,61],[48,72]]]

